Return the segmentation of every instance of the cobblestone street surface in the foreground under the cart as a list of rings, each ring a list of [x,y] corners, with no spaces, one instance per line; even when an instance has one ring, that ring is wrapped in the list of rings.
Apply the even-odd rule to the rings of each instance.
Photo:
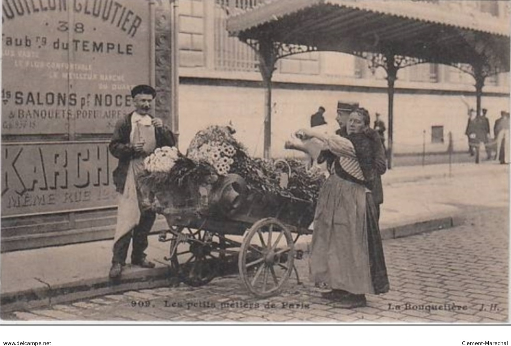
[[[467,207],[463,226],[384,241],[391,290],[367,295],[367,306],[340,309],[308,281],[291,277],[282,294],[257,300],[239,277],[199,288],[161,287],[105,295],[4,319],[176,322],[502,323],[508,320],[508,233],[505,208]]]

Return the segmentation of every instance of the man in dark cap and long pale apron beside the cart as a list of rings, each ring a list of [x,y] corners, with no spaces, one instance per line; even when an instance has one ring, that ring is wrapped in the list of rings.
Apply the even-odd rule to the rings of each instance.
[[[164,126],[163,121],[150,114],[155,96],[156,91],[149,85],[137,85],[131,90],[135,110],[115,124],[108,146],[110,153],[119,159],[113,171],[113,183],[121,194],[109,273],[112,279],[121,275],[131,240],[131,264],[154,267],[154,263],[146,259],[144,251],[156,214],[141,204],[143,197],[135,178],[143,170],[147,155],[158,147],[176,144],[174,134]]]

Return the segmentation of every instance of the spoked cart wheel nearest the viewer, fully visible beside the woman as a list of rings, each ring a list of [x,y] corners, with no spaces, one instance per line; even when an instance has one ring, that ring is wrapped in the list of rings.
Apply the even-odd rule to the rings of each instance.
[[[293,259],[289,229],[275,218],[261,219],[243,239],[238,259],[241,279],[253,294],[262,298],[273,295],[289,279]]]

